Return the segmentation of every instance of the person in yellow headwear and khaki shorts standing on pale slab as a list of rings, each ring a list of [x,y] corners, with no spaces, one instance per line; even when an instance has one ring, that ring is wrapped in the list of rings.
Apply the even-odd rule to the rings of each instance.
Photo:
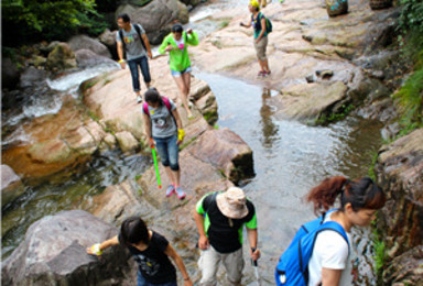
[[[251,21],[249,24],[240,23],[243,28],[252,26],[254,30],[253,43],[259,59],[260,72],[258,76],[265,77],[270,76],[268,57],[265,56],[265,50],[268,47],[268,31],[267,31],[267,19],[260,12],[260,4],[258,1],[252,0],[248,4],[248,9],[251,12]]]

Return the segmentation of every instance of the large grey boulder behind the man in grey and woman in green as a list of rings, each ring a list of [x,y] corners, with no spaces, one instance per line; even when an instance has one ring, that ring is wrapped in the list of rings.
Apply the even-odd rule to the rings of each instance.
[[[141,24],[153,45],[161,43],[174,20],[181,23],[189,20],[186,6],[177,0],[155,0],[142,8],[127,4],[117,10],[116,14],[120,13],[128,13],[132,23]]]

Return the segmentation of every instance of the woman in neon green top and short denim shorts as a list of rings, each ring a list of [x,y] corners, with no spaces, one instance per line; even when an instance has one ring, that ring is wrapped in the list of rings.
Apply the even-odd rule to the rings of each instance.
[[[162,42],[159,53],[164,54],[169,52],[170,67],[172,77],[175,80],[181,94],[181,101],[184,105],[186,116],[188,119],[193,117],[189,110],[192,103],[189,102],[191,92],[191,61],[188,55],[188,45],[198,45],[198,35],[188,29],[186,32],[181,24],[172,26],[172,33],[169,34]]]

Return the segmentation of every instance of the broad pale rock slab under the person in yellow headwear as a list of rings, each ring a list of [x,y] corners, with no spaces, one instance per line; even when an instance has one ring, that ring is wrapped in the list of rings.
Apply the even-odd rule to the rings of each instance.
[[[398,10],[375,12],[366,1],[357,0],[349,1],[347,14],[329,19],[321,3],[304,0],[269,4],[262,12],[273,24],[267,52],[271,76],[257,77],[259,65],[252,31],[239,25],[249,16],[247,8],[213,15],[229,24],[192,50],[195,64],[203,70],[224,73],[279,90],[280,96],[274,100],[279,117],[307,123],[322,114],[343,113],[341,106],[358,107],[368,97],[386,97],[391,92],[380,87],[378,80],[392,78],[395,68],[391,65],[395,62],[387,59],[372,65],[369,57],[387,58],[383,56],[387,53],[379,53],[376,47],[384,47],[390,42],[388,35]],[[357,63],[350,62],[360,57]]]

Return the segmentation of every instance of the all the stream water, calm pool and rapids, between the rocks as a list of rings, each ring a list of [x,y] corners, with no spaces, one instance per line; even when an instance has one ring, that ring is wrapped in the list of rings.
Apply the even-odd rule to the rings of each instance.
[[[219,28],[219,23],[208,19],[208,15],[225,7],[239,4],[242,3],[227,0],[200,6],[192,13],[196,22],[189,25],[199,30],[204,37]],[[116,67],[101,67],[100,70],[112,68]],[[24,119],[57,112],[61,95],[72,94],[79,82],[96,75],[91,72],[50,81],[50,86],[57,90],[52,105],[37,109],[44,105],[34,103],[33,112],[25,114],[23,110],[9,117],[10,124],[17,125]],[[263,285],[272,285],[279,255],[296,229],[314,218],[312,207],[303,204],[303,196],[327,176],[366,176],[372,154],[381,145],[381,125],[355,117],[329,127],[276,120],[272,97],[278,91],[200,70],[194,74],[207,81],[216,96],[219,107],[217,125],[239,134],[253,151],[256,176],[243,182],[242,187],[258,210],[262,282]],[[124,156],[115,151],[96,156],[86,164],[83,174],[62,174],[36,187],[28,186],[22,197],[2,209],[2,257],[19,245],[29,226],[37,219],[63,209],[80,208],[83,201],[89,201],[91,196],[100,194],[107,186],[142,174],[150,163],[150,158],[142,154]],[[362,233],[367,235],[366,230]],[[369,261],[368,240],[358,240],[356,244],[367,255],[364,258]],[[372,284],[373,277],[371,274],[368,276],[370,283],[364,285]],[[249,277],[251,282],[252,276]]]

